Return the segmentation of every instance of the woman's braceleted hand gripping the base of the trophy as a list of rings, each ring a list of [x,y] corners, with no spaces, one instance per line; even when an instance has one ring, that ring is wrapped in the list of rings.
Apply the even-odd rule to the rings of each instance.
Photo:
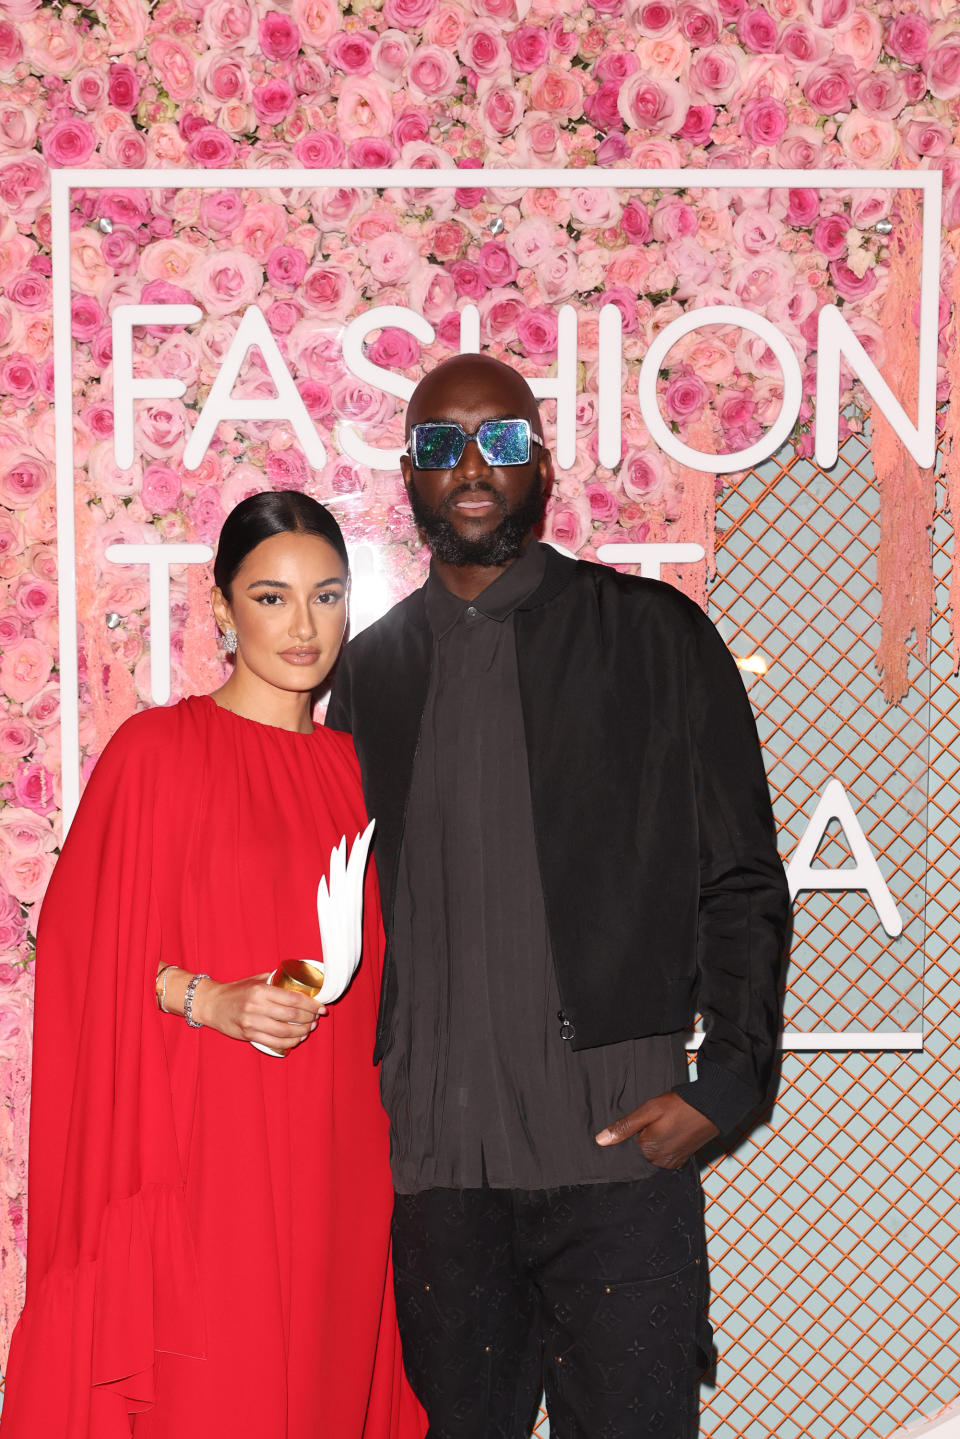
[[[295,1049],[314,1032],[327,1006],[308,994],[275,989],[266,983],[268,977],[269,970],[230,983],[200,980],[193,996],[193,1017],[229,1039],[245,1039],[269,1049]],[[184,989],[187,980],[184,974]],[[173,983],[171,979],[170,989]],[[183,1012],[177,993],[170,994],[170,1000],[171,1009]]]

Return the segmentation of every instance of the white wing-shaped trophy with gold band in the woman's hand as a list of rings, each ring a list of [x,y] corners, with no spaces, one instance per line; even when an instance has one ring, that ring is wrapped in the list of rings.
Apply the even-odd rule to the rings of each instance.
[[[268,979],[276,989],[312,994],[324,1004],[340,999],[360,964],[363,950],[363,879],[373,837],[370,820],[347,859],[347,836],[330,852],[330,875],[317,886],[321,960],[282,960]],[[262,1055],[284,1059],[289,1050],[253,1043]]]

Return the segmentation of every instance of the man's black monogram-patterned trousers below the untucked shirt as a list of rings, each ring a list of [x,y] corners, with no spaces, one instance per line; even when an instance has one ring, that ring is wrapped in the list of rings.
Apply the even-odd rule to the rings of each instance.
[[[397,1194],[403,1358],[427,1439],[695,1439],[710,1364],[694,1161],[548,1190]]]

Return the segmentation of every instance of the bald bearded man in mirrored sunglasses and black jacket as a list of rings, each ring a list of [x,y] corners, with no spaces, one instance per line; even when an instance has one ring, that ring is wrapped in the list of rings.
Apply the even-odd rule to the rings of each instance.
[[[347,648],[387,954],[404,1360],[433,1439],[697,1432],[694,1156],[763,1099],[787,891],[756,730],[679,591],[538,544],[527,383],[417,386],[423,589]],[[684,1030],[705,1039],[687,1076]]]

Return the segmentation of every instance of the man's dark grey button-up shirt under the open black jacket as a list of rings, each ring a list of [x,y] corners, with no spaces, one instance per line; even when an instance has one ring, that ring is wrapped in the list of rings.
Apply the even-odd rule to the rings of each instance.
[[[400,1193],[646,1177],[652,1166],[632,1140],[600,1148],[593,1135],[687,1078],[682,1035],[579,1052],[561,1038],[512,622],[543,573],[543,547],[530,544],[474,603],[433,573],[426,584],[433,665],[400,850],[399,997],[381,1069]],[[557,784],[589,784],[589,757]]]

